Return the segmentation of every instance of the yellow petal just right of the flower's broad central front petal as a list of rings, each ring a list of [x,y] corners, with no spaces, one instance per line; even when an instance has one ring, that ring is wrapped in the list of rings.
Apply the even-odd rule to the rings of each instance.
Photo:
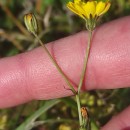
[[[95,13],[95,15],[100,16],[100,14],[104,11],[105,6],[106,6],[105,2],[103,2],[103,1],[98,2],[97,6],[96,6],[96,13]]]

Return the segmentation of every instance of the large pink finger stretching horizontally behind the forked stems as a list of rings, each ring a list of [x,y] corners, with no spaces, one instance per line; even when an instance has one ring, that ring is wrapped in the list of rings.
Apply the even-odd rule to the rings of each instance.
[[[84,90],[130,86],[130,17],[95,30]],[[59,66],[73,82],[79,82],[87,32],[47,44]],[[0,60],[0,108],[30,100],[72,95],[65,81],[41,47]]]

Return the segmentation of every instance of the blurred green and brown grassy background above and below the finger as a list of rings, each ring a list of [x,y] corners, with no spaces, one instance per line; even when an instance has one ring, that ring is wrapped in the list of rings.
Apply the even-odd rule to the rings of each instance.
[[[85,30],[84,21],[66,8],[68,0],[0,0],[0,57],[8,57],[39,46],[28,33],[23,16],[35,13],[39,37],[51,42]],[[130,15],[130,0],[113,0],[110,11],[99,25]],[[122,86],[123,87],[123,86]],[[130,89],[90,91],[81,95],[88,108],[92,130],[130,104]],[[32,101],[0,110],[0,130],[77,130],[78,115],[74,97],[53,101]]]

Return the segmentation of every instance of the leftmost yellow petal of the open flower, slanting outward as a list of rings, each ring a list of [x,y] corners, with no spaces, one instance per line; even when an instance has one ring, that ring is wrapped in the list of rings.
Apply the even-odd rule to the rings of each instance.
[[[84,19],[83,15],[82,15],[82,8],[78,5],[78,4],[74,4],[73,2],[69,2],[67,4],[67,7],[74,12],[75,14],[79,15],[81,18]]]

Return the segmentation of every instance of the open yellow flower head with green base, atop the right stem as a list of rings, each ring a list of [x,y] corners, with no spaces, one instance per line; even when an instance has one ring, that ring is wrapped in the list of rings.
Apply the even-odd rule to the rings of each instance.
[[[97,18],[105,14],[109,10],[110,5],[109,0],[106,0],[106,2],[102,0],[89,0],[87,2],[85,0],[74,0],[74,2],[69,2],[67,7],[86,20],[87,24],[91,26],[90,28],[93,29]]]

